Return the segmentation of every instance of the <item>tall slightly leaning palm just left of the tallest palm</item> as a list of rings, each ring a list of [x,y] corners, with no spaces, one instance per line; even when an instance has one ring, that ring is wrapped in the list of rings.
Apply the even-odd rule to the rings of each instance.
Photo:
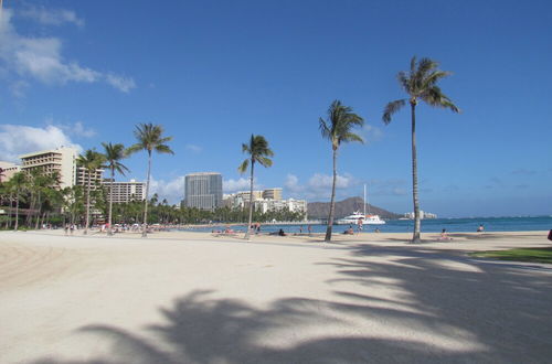
[[[331,150],[333,157],[333,181],[331,184],[331,199],[330,199],[330,214],[328,216],[328,227],[326,228],[325,242],[331,242],[331,229],[333,225],[333,212],[336,210],[336,181],[338,176],[337,170],[337,157],[338,149],[342,142],[359,141],[364,142],[364,140],[352,132],[352,128],[362,127],[364,125],[364,119],[362,119],[357,114],[352,113],[352,108],[344,106],[340,100],[335,100],[328,108],[328,118],[325,120],[319,119],[319,128],[322,133],[322,138],[328,139],[331,142]]]

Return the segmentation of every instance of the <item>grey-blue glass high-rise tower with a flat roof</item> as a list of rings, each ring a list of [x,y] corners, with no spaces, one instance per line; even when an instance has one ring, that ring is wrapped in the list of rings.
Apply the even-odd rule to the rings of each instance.
[[[222,206],[222,174],[214,172],[187,174],[184,194],[187,207],[213,211]]]

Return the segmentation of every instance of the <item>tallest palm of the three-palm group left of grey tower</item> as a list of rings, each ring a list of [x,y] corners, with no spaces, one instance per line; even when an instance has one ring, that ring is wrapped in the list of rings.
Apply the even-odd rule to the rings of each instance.
[[[138,142],[130,148],[127,152],[135,153],[140,150],[146,150],[148,152],[148,180],[146,181],[146,199],[144,200],[144,229],[141,233],[142,237],[147,237],[147,225],[148,225],[148,194],[149,194],[149,181],[151,178],[151,152],[157,151],[158,153],[169,153],[174,154],[166,142],[172,140],[172,137],[163,137],[163,127],[160,125],[140,124],[136,126],[135,137]]]

